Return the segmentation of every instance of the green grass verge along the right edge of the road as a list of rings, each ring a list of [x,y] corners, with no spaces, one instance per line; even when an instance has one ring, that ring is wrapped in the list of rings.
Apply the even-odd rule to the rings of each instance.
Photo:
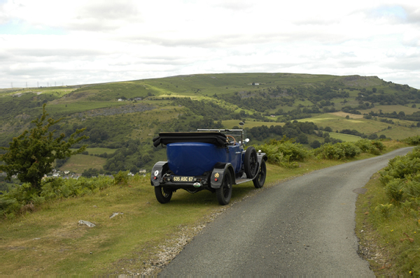
[[[365,186],[367,192],[359,194],[356,203],[356,234],[360,246],[370,249],[367,256],[374,274],[420,275],[420,219],[419,214],[391,207],[384,217],[380,204],[387,204],[384,186],[379,174],[372,176]],[[414,241],[409,242],[408,238]]]

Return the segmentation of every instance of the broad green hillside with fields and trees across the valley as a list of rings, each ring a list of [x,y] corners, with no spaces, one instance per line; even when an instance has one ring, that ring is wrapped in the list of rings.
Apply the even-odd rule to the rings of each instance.
[[[374,76],[231,73],[0,89],[0,145],[27,129],[43,103],[53,118],[62,117],[59,133],[87,128],[85,143],[102,151],[90,152],[100,157],[85,167],[104,173],[150,170],[165,159],[165,149],[151,145],[160,131],[232,128],[240,121],[251,142],[288,136],[310,146],[420,134],[420,91],[408,85]],[[61,161],[60,169],[87,170],[74,161]]]

